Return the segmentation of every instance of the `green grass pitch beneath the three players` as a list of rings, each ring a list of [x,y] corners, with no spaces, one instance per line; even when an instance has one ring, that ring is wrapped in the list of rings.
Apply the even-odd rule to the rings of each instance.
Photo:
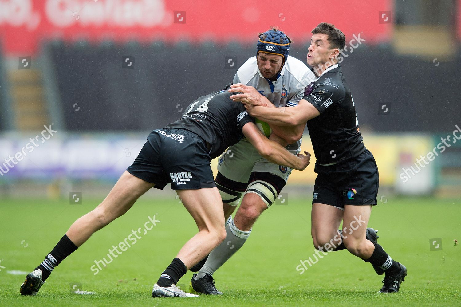
[[[408,268],[398,294],[378,294],[382,277],[347,251],[326,255],[299,274],[300,260],[312,256],[309,200],[274,205],[256,223],[245,246],[218,272],[224,295],[153,299],[151,289],[179,248],[195,234],[195,224],[181,204],[142,198],[123,217],[98,231],[51,275],[38,295],[19,295],[24,275],[53,248],[70,224],[99,200],[83,205],[68,201],[0,200],[0,306],[460,306],[460,200],[389,199],[373,209],[370,226],[379,243]],[[155,213],[161,222],[135,245],[94,275],[101,260],[131,229],[143,227]],[[429,250],[431,238],[443,249]],[[23,242],[23,240],[25,240]],[[460,241],[461,243],[461,241]],[[25,247],[27,245],[27,247]],[[188,287],[188,272],[178,284]],[[82,283],[94,295],[71,294],[69,283]]]

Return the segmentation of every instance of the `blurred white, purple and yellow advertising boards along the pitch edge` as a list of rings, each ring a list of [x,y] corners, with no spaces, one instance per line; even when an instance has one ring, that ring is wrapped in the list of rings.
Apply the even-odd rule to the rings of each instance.
[[[0,185],[21,180],[41,183],[44,179],[51,183],[63,178],[71,182],[114,183],[136,158],[147,135],[148,132],[69,133],[53,130],[52,125],[44,127],[36,136],[7,133],[5,139],[0,139]],[[315,157],[309,136],[303,136],[302,141],[301,149],[312,153],[311,165],[305,171],[293,171],[289,186],[313,186],[315,181]],[[437,147],[436,141],[433,136],[424,134],[366,133],[364,136],[364,143],[378,164],[380,186],[399,194],[431,194],[446,183],[440,177],[441,170],[459,161],[461,151],[439,150],[438,156],[428,165],[418,162],[421,156]],[[217,160],[211,162],[215,174]],[[424,167],[417,171],[418,165]],[[414,174],[407,171],[410,178],[404,180],[404,170],[413,170]],[[452,181],[452,184],[461,185],[459,179],[452,178]]]

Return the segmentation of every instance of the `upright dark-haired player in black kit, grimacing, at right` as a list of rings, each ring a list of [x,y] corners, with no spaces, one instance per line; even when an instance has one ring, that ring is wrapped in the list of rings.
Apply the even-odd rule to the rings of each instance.
[[[377,204],[378,168],[365,148],[355,104],[337,58],[346,38],[334,25],[321,23],[312,30],[307,64],[317,79],[305,89],[298,106],[275,108],[253,88],[233,84],[231,96],[248,113],[266,123],[296,126],[307,122],[317,162],[312,206],[312,238],[321,251],[347,248],[370,262],[382,275],[379,292],[398,292],[407,269],[392,260],[378,244],[376,230],[367,229],[372,206]],[[343,229],[338,227],[343,221]]]

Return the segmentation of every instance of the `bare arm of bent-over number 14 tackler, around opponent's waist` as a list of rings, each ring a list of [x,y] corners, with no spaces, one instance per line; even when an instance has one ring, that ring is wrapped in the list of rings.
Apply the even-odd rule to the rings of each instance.
[[[279,143],[271,141],[264,136],[254,123],[245,124],[242,132],[248,142],[258,150],[258,153],[274,164],[303,171],[310,163],[310,153],[304,152],[306,155],[298,154],[297,156],[290,153]]]

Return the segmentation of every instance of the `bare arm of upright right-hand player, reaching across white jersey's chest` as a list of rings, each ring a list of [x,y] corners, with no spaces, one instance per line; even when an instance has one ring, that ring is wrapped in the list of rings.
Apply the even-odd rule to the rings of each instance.
[[[301,99],[297,106],[285,106],[281,108],[267,108],[245,104],[248,114],[265,121],[268,124],[278,126],[298,126],[306,124],[309,119],[320,115],[319,110],[307,100]]]

